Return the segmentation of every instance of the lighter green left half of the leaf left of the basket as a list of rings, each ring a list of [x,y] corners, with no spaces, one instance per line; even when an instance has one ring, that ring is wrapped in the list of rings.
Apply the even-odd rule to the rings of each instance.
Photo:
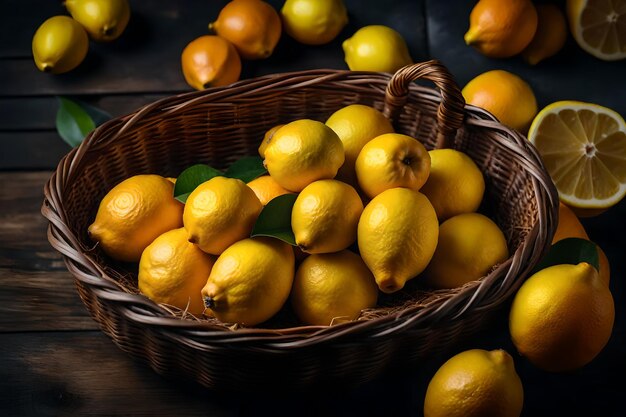
[[[96,123],[87,111],[75,101],[58,97],[57,132],[70,146],[76,147],[96,128]]]

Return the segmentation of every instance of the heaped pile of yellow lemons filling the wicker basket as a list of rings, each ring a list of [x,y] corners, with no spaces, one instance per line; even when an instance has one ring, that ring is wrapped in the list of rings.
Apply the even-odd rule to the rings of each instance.
[[[485,181],[472,159],[427,151],[373,107],[276,126],[259,153],[269,175],[211,178],[184,204],[174,179],[128,178],[103,198],[89,234],[112,258],[139,262],[139,290],[154,301],[244,326],[288,299],[304,324],[354,320],[379,292],[416,277],[462,286],[508,257],[500,228],[477,212]],[[295,245],[250,237],[284,194],[295,195]]]

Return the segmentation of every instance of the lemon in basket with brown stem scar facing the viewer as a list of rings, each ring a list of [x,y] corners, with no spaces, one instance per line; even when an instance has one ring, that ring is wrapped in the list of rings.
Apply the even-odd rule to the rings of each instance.
[[[430,173],[430,155],[415,138],[386,133],[363,146],[355,167],[359,186],[370,198],[396,187],[418,191]]]

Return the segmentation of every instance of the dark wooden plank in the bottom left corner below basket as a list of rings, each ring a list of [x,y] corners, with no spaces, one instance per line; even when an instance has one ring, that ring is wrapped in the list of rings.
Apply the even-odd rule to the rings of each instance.
[[[0,335],[0,415],[239,415],[234,396],[167,381],[100,332]]]

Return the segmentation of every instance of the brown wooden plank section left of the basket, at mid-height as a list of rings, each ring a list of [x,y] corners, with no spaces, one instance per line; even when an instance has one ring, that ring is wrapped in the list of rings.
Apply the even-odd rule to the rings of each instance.
[[[50,172],[0,173],[0,332],[98,329],[39,213]]]

